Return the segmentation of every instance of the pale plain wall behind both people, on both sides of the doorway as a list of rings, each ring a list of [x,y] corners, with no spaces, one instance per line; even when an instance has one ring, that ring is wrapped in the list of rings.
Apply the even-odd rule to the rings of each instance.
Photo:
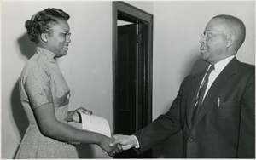
[[[232,14],[244,21],[247,38],[237,57],[255,64],[252,1],[126,3],[154,14],[153,119],[169,109],[183,77],[205,66],[199,60],[199,38],[212,16]],[[70,109],[85,106],[106,117],[112,128],[112,2],[2,2],[2,158],[15,155],[13,142],[20,141],[27,126],[17,86],[32,54],[24,22],[48,7],[71,15],[72,43],[67,56],[58,60],[71,89]],[[173,155],[173,145],[167,142],[154,149],[154,157]],[[97,146],[84,147],[84,153],[90,153],[86,157],[104,157]]]

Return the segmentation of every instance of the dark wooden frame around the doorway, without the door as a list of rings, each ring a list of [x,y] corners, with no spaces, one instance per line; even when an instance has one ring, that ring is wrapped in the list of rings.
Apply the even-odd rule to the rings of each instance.
[[[113,124],[115,123],[117,60],[118,60],[118,20],[125,19],[138,24],[138,73],[137,73],[137,130],[152,122],[152,77],[153,77],[153,15],[142,9],[124,3],[113,2]],[[147,118],[140,118],[147,117]],[[113,125],[113,134],[115,126]]]

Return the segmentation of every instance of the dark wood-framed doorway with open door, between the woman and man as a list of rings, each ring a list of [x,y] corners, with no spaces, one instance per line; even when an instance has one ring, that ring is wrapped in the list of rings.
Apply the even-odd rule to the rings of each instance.
[[[153,15],[113,2],[113,134],[133,134],[152,121]],[[123,151],[118,158],[152,157]]]

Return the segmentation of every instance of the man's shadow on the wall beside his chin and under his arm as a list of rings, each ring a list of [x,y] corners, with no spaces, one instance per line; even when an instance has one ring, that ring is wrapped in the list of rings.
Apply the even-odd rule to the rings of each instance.
[[[190,66],[190,64],[192,66]],[[188,70],[184,73],[183,78],[189,74],[195,74],[207,68],[207,62],[201,60],[201,55],[195,56],[189,60],[189,65],[185,65]],[[189,70],[191,68],[191,70]],[[183,79],[182,79],[183,80]],[[182,82],[181,82],[182,83]],[[172,103],[171,103],[172,104]],[[154,147],[154,158],[181,158],[183,154],[183,133],[179,131],[169,139],[162,142],[159,146]]]

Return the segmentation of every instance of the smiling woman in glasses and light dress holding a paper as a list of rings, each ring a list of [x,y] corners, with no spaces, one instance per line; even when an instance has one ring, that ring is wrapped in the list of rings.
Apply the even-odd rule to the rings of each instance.
[[[29,120],[16,158],[78,158],[74,145],[96,144],[112,156],[118,147],[105,135],[75,129],[78,111],[68,111],[70,91],[55,59],[67,54],[70,40],[69,15],[61,9],[44,9],[26,20],[30,40],[37,44],[35,54],[20,76],[20,99]]]

